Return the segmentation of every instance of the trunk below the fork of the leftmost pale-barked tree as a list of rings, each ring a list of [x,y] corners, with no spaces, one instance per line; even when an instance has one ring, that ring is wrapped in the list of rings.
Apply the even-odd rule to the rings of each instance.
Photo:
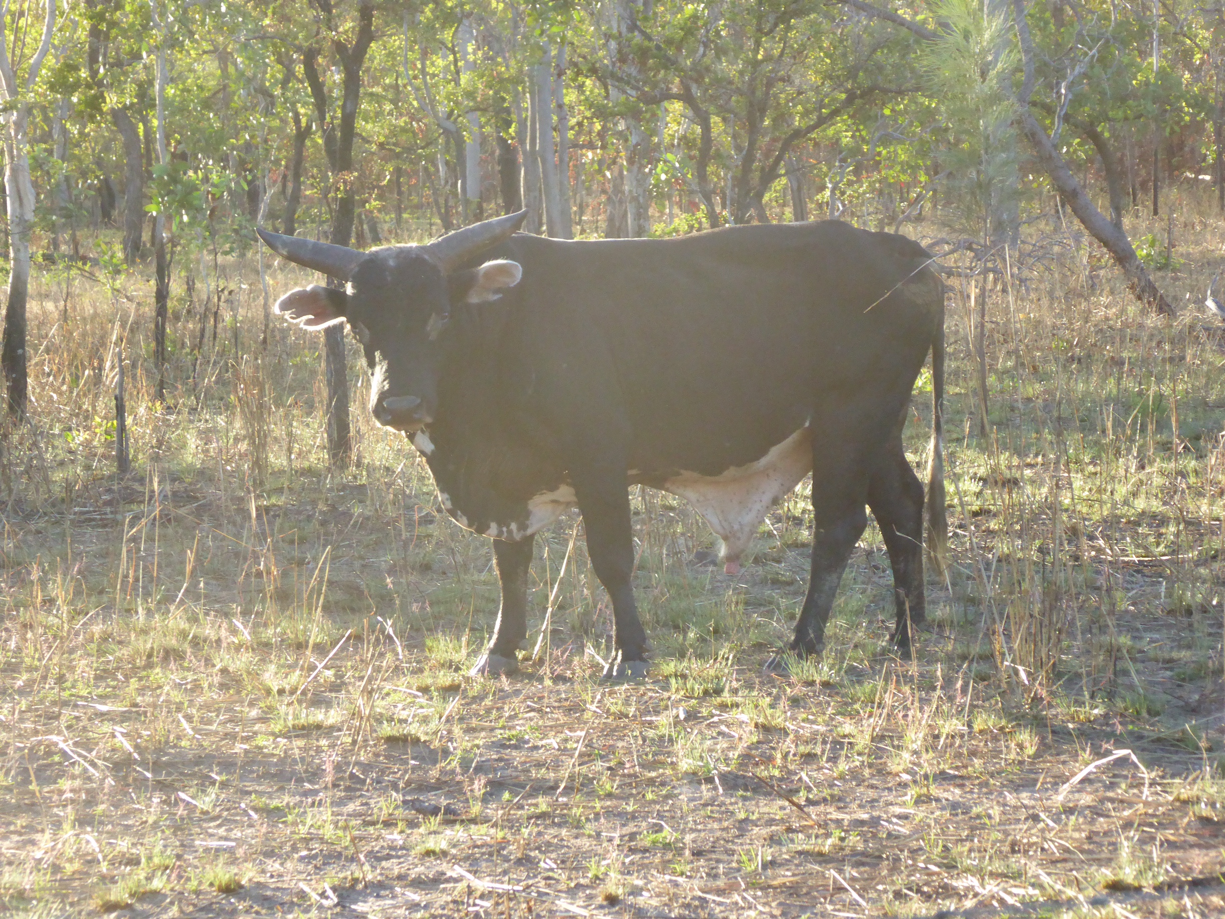
[[[5,189],[9,207],[9,301],[4,314],[0,369],[9,414],[24,418],[29,392],[26,375],[26,301],[29,297],[29,234],[34,228],[34,186],[29,180],[26,129],[29,109],[18,103],[5,137]]]

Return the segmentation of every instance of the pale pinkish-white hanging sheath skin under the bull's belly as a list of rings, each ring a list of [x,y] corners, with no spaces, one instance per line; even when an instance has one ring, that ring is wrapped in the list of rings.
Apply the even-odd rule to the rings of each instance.
[[[761,460],[718,475],[682,472],[664,482],[663,490],[693,505],[710,529],[723,539],[719,560],[729,573],[775,501],[812,472],[812,430],[801,428]]]

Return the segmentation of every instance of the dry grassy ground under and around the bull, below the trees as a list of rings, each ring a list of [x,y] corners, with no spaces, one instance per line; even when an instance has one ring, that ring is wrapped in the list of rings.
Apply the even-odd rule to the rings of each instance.
[[[1198,303],[1219,218],[1187,197],[1175,232],[1161,284]],[[989,442],[949,301],[954,566],[918,662],[883,651],[870,531],[829,654],[761,678],[802,599],[806,486],[737,577],[646,493],[659,659],[630,687],[597,679],[611,624],[582,539],[556,584],[573,518],[538,549],[537,627],[557,605],[529,675],[464,675],[488,540],[364,414],[354,469],[326,467],[318,341],[260,347],[254,262],[221,261],[207,312],[203,278],[195,304],[176,282],[165,406],[148,278],[42,276],[32,424],[0,441],[0,909],[1221,914],[1225,332],[1138,315],[1052,239],[990,303]],[[141,472],[118,483],[125,335]]]

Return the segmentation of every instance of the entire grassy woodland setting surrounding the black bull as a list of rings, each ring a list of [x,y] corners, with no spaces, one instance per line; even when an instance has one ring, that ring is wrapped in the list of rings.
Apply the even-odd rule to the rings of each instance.
[[[0,913],[1225,914],[1220,5],[0,25]],[[735,576],[633,490],[649,680],[599,681],[577,515],[537,537],[523,674],[467,675],[490,540],[349,414],[355,343],[274,321],[320,278],[254,229],[361,249],[519,207],[555,236],[834,217],[932,251],[952,533],[914,660],[870,526],[824,656],[761,674],[805,482]]]

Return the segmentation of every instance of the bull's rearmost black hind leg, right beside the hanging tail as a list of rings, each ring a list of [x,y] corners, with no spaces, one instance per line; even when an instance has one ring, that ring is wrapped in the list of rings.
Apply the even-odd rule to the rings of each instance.
[[[910,626],[926,618],[922,576],[922,483],[907,462],[902,439],[889,441],[867,489],[872,509],[889,551],[897,625],[893,643],[910,652]]]

